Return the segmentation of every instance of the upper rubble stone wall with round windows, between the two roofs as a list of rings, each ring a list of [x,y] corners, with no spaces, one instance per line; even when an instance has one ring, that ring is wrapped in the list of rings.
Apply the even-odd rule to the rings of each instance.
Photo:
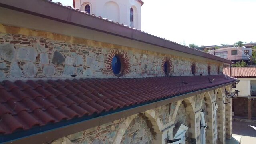
[[[191,76],[193,64],[196,75],[208,75],[208,65],[211,74],[217,74],[218,67],[222,71],[222,64],[210,61],[0,24],[0,78],[114,76],[111,60],[115,54],[124,58],[125,77],[165,76],[166,60],[172,76]]]

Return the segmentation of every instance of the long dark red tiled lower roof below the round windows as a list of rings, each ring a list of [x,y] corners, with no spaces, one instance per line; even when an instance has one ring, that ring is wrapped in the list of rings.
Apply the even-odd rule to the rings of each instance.
[[[214,82],[209,79],[215,78]],[[224,75],[0,83],[0,134],[29,130],[234,82]]]

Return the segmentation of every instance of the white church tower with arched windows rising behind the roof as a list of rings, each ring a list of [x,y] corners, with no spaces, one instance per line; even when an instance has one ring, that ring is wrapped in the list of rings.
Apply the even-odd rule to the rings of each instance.
[[[137,0],[75,0],[81,11],[89,4],[91,13],[130,26],[130,9],[133,8],[133,27],[141,29],[141,3]]]

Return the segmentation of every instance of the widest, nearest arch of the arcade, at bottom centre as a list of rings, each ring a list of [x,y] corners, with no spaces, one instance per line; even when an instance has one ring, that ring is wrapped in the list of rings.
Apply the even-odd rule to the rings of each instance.
[[[161,134],[159,126],[162,126],[162,125],[158,118],[157,118],[157,120],[155,120],[155,110],[149,110],[149,111],[135,114],[135,115],[125,118],[125,121],[121,124],[119,130],[117,131],[117,135],[115,136],[115,139],[113,140],[113,144],[120,144],[120,142],[125,134],[125,131],[130,126],[131,122],[135,119],[136,116],[141,116],[144,120],[146,120],[147,126],[150,128],[150,132],[154,136],[153,143],[161,144],[162,134]]]

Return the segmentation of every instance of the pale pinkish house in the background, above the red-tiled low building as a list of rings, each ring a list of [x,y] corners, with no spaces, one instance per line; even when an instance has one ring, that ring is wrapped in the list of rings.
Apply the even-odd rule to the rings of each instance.
[[[228,48],[219,48],[217,50],[209,50],[208,53],[214,54],[221,58],[225,58],[231,61],[238,60],[250,60],[250,56],[252,56],[252,48],[246,47],[228,47]]]

